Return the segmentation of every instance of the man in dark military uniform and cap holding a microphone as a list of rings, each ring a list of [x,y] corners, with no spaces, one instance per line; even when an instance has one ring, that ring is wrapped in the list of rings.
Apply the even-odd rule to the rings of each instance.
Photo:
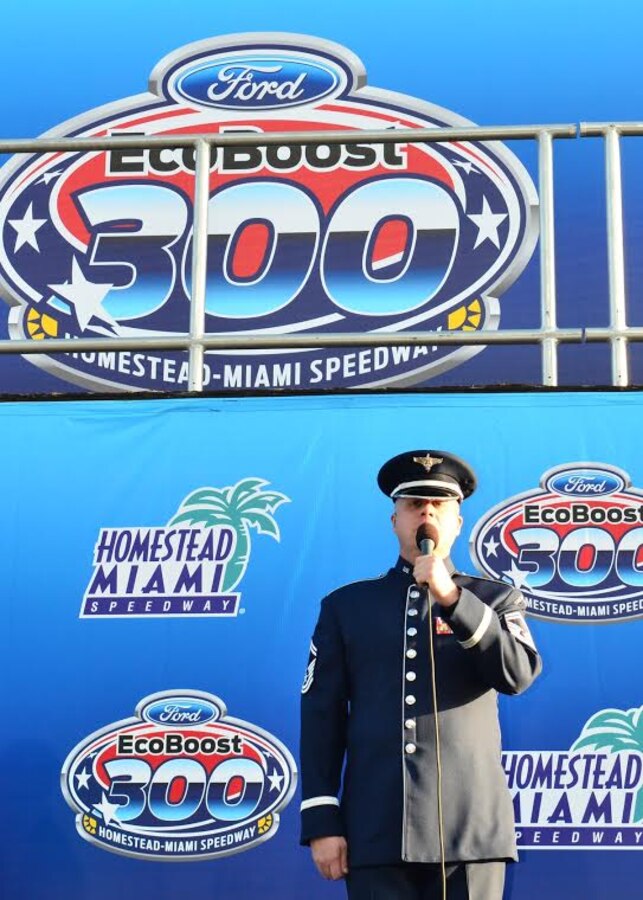
[[[302,688],[301,840],[350,900],[439,898],[444,879],[449,900],[500,900],[516,844],[497,693],[541,668],[525,601],[449,558],[476,486],[465,462],[410,451],[378,484],[400,557],[322,602]]]

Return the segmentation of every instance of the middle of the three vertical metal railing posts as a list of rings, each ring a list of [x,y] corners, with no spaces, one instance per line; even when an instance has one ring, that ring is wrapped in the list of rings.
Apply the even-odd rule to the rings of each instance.
[[[548,131],[538,134],[538,193],[540,197],[540,324],[542,380],[548,387],[558,385],[558,341],[547,337],[556,322],[556,246],[554,235],[554,155]]]

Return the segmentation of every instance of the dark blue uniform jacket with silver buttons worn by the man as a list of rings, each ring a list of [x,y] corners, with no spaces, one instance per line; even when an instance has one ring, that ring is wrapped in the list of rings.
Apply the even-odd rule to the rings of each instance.
[[[497,692],[528,687],[540,658],[522,594],[447,564],[460,599],[432,604],[445,855],[515,859]],[[403,559],[322,602],[302,688],[301,839],[346,836],[352,866],[440,860],[428,608]]]

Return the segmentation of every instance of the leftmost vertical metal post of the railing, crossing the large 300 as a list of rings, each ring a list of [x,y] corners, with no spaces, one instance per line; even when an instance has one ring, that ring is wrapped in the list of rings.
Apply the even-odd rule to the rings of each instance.
[[[203,390],[203,336],[208,263],[208,199],[210,190],[210,145],[197,141],[194,172],[194,216],[192,230],[192,291],[190,296],[190,353],[188,386]]]

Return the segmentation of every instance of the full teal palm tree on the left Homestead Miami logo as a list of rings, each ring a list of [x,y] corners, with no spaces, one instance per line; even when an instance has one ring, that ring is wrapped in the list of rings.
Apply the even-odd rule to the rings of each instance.
[[[279,526],[273,513],[290,498],[279,491],[264,490],[269,482],[244,478],[232,487],[199,488],[181,503],[169,525],[188,524],[202,528],[227,525],[236,534],[236,545],[228,561],[222,590],[232,591],[241,581],[250,558],[250,528],[279,541]]]

